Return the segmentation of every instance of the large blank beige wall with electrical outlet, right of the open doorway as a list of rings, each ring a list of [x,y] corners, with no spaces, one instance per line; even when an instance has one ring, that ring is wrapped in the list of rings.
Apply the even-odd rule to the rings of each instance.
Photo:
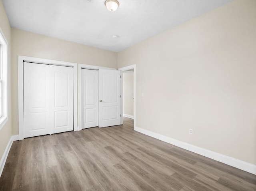
[[[137,127],[256,164],[256,1],[230,2],[118,53],[118,68],[132,64]]]

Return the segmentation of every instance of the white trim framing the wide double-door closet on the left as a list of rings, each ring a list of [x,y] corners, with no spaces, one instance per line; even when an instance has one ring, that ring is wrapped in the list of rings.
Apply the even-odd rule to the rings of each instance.
[[[24,139],[24,113],[23,113],[23,62],[36,62],[40,64],[52,64],[59,66],[70,66],[74,70],[74,131],[77,131],[77,64],[44,58],[34,58],[28,56],[18,56],[18,120],[19,120],[19,140]]]

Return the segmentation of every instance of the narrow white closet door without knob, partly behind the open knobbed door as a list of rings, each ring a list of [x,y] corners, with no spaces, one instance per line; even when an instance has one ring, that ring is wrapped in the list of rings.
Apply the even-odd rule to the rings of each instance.
[[[82,129],[98,126],[98,70],[82,69]]]

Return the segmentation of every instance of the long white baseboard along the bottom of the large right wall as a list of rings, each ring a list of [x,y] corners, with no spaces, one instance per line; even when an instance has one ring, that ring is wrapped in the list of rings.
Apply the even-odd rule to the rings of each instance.
[[[185,143],[183,141],[179,141],[177,139],[172,139],[170,137],[166,137],[164,135],[158,134],[158,133],[154,133],[152,131],[148,131],[146,129],[142,129],[140,127],[135,127],[134,128],[135,131],[138,131],[140,133],[143,133],[145,135],[148,135],[150,137],[154,137],[156,139],[159,139],[161,141],[164,141],[166,143],[170,143],[172,145],[175,145],[177,147],[181,147],[183,149],[186,149],[188,151],[192,151],[194,153],[197,153],[199,155],[203,155],[205,157],[208,157],[210,159],[214,159],[216,161],[225,163],[227,165],[230,165],[232,167],[236,167],[238,169],[244,170],[246,172],[252,173],[256,175],[256,165],[245,162],[245,161],[241,161],[239,159],[235,159],[233,157],[229,157],[226,155],[222,155],[220,153],[216,153],[214,151],[210,151],[208,149],[204,149],[201,147],[197,147],[195,145],[191,145],[188,143]]]

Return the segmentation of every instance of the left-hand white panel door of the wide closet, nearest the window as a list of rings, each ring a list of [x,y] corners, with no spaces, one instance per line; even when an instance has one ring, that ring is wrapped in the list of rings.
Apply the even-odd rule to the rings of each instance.
[[[48,65],[24,62],[24,138],[49,133]]]

